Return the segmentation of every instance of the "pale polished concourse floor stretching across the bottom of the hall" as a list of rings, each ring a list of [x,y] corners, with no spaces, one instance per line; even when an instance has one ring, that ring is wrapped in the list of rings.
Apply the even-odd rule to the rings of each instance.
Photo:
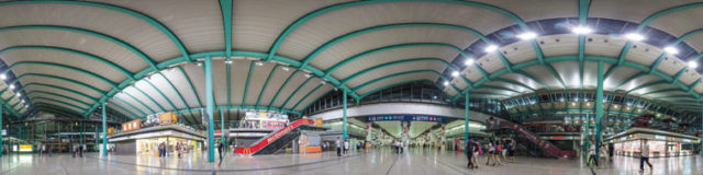
[[[70,154],[54,154],[52,158],[37,154],[3,155],[0,174],[323,174],[323,175],[377,175],[377,174],[490,174],[490,175],[573,175],[573,174],[703,174],[701,156],[652,159],[654,172],[638,173],[639,160],[617,156],[609,168],[591,170],[582,166],[582,160],[556,160],[517,158],[514,163],[499,166],[481,164],[478,170],[466,168],[467,160],[460,153],[411,149],[404,154],[390,150],[353,152],[337,158],[333,152],[313,154],[276,154],[260,156],[226,156],[221,163],[208,163],[202,153],[185,158],[87,154],[71,158]],[[486,158],[480,158],[484,163]]]

